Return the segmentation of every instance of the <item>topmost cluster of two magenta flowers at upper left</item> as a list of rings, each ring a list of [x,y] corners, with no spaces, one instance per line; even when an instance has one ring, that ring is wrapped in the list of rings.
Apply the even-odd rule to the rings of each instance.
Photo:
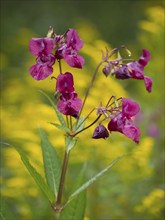
[[[76,30],[69,29],[64,35],[46,38],[32,38],[29,49],[32,55],[37,56],[36,64],[30,67],[30,74],[36,80],[43,80],[53,73],[53,64],[56,59],[64,59],[71,67],[82,68],[84,58],[78,55],[83,41]]]

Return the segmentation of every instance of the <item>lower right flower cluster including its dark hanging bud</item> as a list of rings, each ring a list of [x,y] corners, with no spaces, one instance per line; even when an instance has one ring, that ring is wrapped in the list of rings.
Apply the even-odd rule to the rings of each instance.
[[[102,108],[103,107],[101,106],[101,109]],[[133,120],[131,119],[139,112],[139,110],[139,105],[128,98],[122,98],[121,110],[120,106],[111,107],[110,109],[104,108],[103,114],[106,114],[106,119],[110,118],[108,130],[110,132],[118,131],[128,138],[131,138],[136,143],[139,143],[140,129],[134,125]],[[108,130],[100,124],[95,128],[93,138],[105,139],[109,137]]]

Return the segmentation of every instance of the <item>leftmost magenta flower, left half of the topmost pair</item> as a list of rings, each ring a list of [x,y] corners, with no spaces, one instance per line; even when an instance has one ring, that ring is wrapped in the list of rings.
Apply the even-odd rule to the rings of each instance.
[[[51,54],[54,48],[52,38],[32,38],[29,43],[29,50],[37,56],[36,64],[30,67],[30,74],[36,80],[43,80],[53,73],[55,56]]]

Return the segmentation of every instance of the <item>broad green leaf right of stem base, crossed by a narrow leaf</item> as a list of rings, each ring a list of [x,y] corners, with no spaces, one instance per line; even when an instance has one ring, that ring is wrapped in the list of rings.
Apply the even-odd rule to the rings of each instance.
[[[82,185],[85,181],[84,172],[85,169],[80,172],[74,190]],[[83,220],[86,207],[86,190],[81,192],[75,197],[67,206],[64,206],[64,210],[61,213],[60,220]]]

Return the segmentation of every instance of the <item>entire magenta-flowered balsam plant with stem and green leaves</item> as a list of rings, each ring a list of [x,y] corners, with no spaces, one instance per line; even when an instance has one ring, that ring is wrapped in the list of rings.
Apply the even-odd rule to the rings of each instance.
[[[120,132],[136,144],[139,143],[140,128],[136,126],[133,118],[140,111],[140,107],[136,101],[130,98],[107,97],[105,105],[101,103],[100,106],[93,106],[93,109],[84,116],[86,100],[90,95],[98,70],[101,68],[102,77],[107,77],[107,80],[108,77],[115,77],[117,80],[139,79],[144,81],[147,92],[150,93],[152,89],[152,80],[144,75],[144,67],[150,60],[148,50],[143,49],[140,58],[133,60],[130,58],[131,52],[125,46],[114,48],[111,51],[106,48],[105,51],[102,51],[100,63],[94,70],[91,82],[82,99],[79,97],[78,91],[75,91],[74,74],[63,72],[61,62],[64,60],[70,67],[82,69],[85,63],[84,58],[79,55],[82,47],[83,41],[74,29],[68,29],[64,34],[59,35],[50,27],[45,38],[32,38],[29,42],[29,50],[36,57],[36,63],[29,70],[31,76],[34,80],[44,80],[50,76],[55,81],[55,89],[52,89],[54,100],[42,90],[41,93],[49,100],[59,120],[58,123],[51,124],[65,133],[64,158],[61,163],[46,133],[39,128],[45,182],[30,164],[26,154],[19,148],[16,150],[29,173],[48,198],[57,220],[83,219],[86,189],[123,157],[122,155],[116,158],[105,169],[87,181],[84,179],[85,168],[82,169],[76,180],[73,180],[75,190],[66,198],[64,187],[69,156],[71,149],[78,144],[77,137],[80,133],[93,127],[93,134],[91,134],[93,139],[107,139],[113,132]],[[121,48],[126,51],[127,57],[121,56]],[[59,70],[59,74],[53,76],[55,65],[57,65],[56,70]],[[88,123],[91,114],[95,115],[95,119],[92,123]],[[97,144],[97,140],[95,141]]]

